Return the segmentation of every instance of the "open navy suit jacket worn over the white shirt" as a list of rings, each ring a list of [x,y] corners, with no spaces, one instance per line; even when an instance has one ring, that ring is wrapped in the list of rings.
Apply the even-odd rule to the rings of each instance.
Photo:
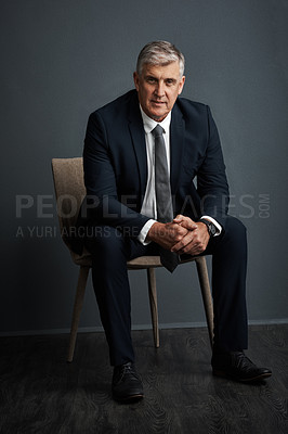
[[[140,214],[147,156],[135,90],[90,115],[83,169],[78,226],[108,225],[136,238],[149,217]],[[211,216],[225,229],[228,186],[218,130],[207,105],[184,98],[171,113],[170,183],[174,215]]]

